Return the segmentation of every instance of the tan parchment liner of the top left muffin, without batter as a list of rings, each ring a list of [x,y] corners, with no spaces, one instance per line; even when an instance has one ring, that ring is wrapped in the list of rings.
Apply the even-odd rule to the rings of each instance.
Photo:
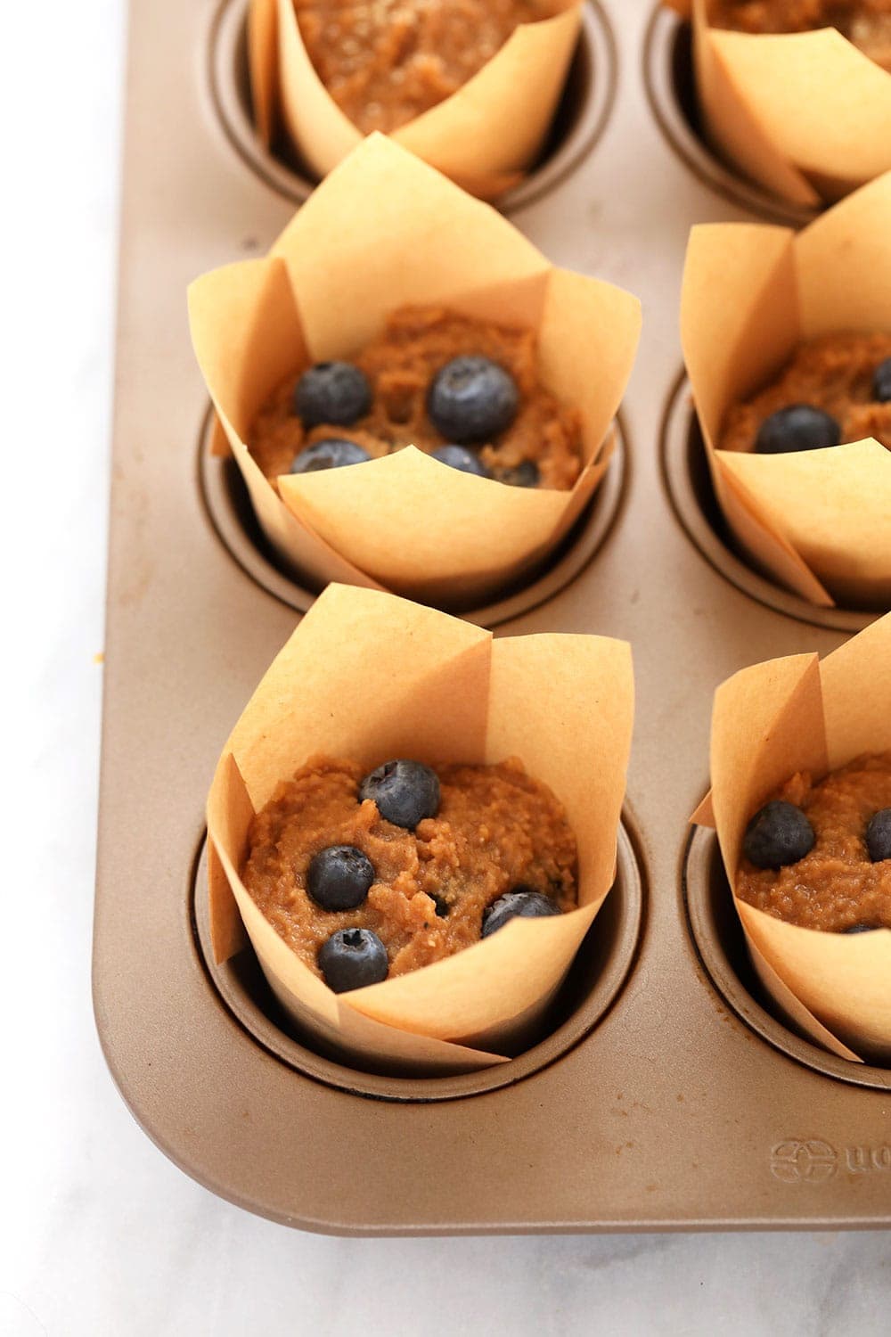
[[[484,199],[521,180],[548,134],[581,27],[578,0],[549,8],[552,17],[521,24],[473,79],[391,138]],[[306,164],[326,176],[362,142],[313,67],[293,0],[251,0],[248,67],[267,148],[281,120]]]

